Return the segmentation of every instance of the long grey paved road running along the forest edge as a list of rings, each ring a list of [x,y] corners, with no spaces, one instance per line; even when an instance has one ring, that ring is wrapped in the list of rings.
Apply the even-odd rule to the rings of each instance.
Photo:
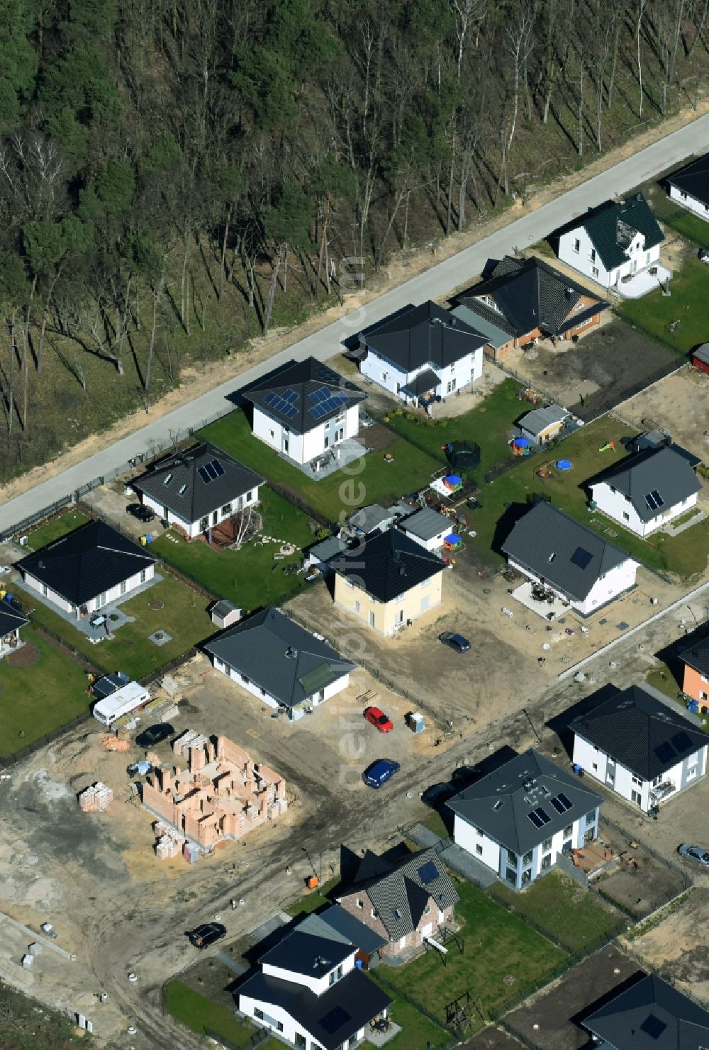
[[[204,420],[221,413],[225,398],[234,390],[253,382],[277,365],[293,358],[303,360],[311,355],[319,360],[328,360],[339,352],[343,339],[362,328],[381,320],[410,302],[424,302],[426,299],[437,299],[445,295],[480,273],[488,258],[501,258],[514,248],[526,248],[587,208],[601,204],[616,193],[632,189],[633,186],[646,182],[671,164],[691,153],[702,152],[707,147],[709,147],[709,116],[701,117],[628,160],[569,190],[568,193],[510,223],[504,229],[471,245],[470,248],[465,248],[417,277],[412,277],[398,288],[368,302],[364,310],[320,329],[307,339],[242,373],[238,378],[235,377],[215,386],[208,394],[203,394],[153,423],[135,430],[110,448],[96,453],[76,466],[37,485],[30,491],[11,500],[0,508],[0,530],[12,528],[16,523],[62,499],[67,492],[75,491],[86,481],[110,476],[118,466],[146,452],[151,441],[162,443],[169,439],[170,435],[200,426]]]

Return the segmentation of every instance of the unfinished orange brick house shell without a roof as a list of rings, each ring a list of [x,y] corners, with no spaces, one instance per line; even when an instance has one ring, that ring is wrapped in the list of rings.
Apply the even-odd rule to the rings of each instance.
[[[286,781],[254,762],[226,736],[193,732],[174,741],[187,768],[157,770],[143,785],[143,805],[205,850],[286,812]]]

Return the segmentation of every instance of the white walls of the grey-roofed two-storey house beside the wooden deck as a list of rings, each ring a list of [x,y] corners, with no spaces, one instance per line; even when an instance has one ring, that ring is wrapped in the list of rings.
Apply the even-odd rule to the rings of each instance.
[[[554,867],[559,854],[579,849],[598,835],[599,807],[590,810],[560,832],[540,840],[522,856],[491,838],[481,827],[476,827],[455,814],[453,839],[471,856],[489,867],[508,886],[523,889],[540,875]]]

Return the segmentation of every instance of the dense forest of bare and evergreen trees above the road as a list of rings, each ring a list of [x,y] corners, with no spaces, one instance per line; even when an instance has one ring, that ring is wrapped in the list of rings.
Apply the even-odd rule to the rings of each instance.
[[[708,6],[0,0],[0,476],[696,109]]]

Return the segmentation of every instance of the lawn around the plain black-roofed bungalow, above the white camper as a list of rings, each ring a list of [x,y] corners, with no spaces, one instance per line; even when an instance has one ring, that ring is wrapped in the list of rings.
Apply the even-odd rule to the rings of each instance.
[[[142,678],[214,633],[206,611],[208,602],[168,572],[161,575],[164,576],[161,583],[122,603],[123,612],[134,616],[134,621],[124,624],[111,639],[98,646],[90,645],[81,631],[39,601],[33,604],[32,618],[102,671],[121,670],[131,678]],[[22,600],[25,604],[33,601],[26,591],[22,592]],[[150,609],[149,603],[154,601],[162,602],[163,608]],[[171,634],[172,640],[163,646],[148,640],[149,634],[160,630]]]

